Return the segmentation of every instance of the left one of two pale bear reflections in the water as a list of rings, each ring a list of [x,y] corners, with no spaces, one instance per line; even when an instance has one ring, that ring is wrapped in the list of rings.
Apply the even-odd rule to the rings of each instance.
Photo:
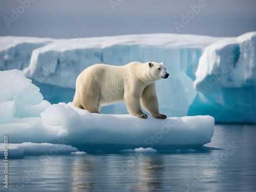
[[[93,191],[95,183],[92,182],[94,165],[91,158],[74,156],[71,170],[72,191]]]

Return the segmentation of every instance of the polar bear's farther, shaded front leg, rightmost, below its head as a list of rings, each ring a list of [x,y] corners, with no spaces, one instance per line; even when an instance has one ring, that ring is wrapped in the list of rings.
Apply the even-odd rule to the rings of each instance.
[[[159,113],[159,104],[156,93],[156,83],[149,84],[142,92],[141,103],[143,108],[150,112],[152,117],[166,119],[167,116]]]

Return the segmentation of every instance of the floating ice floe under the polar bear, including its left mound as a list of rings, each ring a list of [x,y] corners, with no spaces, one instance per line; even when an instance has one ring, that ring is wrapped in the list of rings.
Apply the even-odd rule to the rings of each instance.
[[[91,114],[71,102],[50,104],[42,100],[39,89],[22,71],[0,71],[0,82],[0,142],[8,135],[9,144],[15,143],[10,145],[10,156],[48,153],[62,145],[73,148],[65,146],[56,153],[193,148],[210,142],[214,134],[211,116],[145,120],[131,115]]]

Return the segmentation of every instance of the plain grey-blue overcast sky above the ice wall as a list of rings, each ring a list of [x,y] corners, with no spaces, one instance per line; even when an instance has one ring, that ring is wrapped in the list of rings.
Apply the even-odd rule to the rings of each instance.
[[[256,31],[254,0],[30,1],[0,0],[1,36],[73,38],[80,33],[82,37],[141,33],[238,36]]]

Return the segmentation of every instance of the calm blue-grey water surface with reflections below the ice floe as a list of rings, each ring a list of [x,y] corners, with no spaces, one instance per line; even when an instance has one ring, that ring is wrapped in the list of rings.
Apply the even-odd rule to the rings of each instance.
[[[0,191],[256,191],[255,139],[255,125],[216,125],[201,151],[25,156]]]

